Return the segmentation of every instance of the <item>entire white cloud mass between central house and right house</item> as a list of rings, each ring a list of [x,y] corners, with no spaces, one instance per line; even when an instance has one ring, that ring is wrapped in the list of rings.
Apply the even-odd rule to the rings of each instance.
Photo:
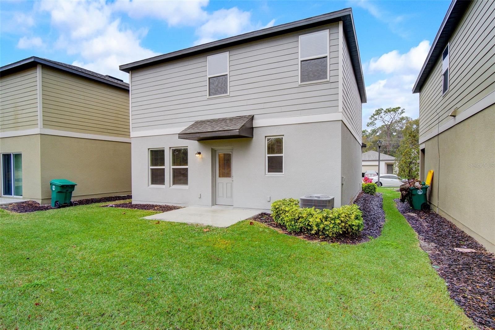
[[[421,41],[407,53],[397,50],[374,58],[367,64],[369,72],[387,74],[384,79],[366,86],[368,102],[363,104],[363,127],[378,108],[402,107],[405,116],[418,118],[419,94],[412,93],[412,86],[430,49],[429,41]]]

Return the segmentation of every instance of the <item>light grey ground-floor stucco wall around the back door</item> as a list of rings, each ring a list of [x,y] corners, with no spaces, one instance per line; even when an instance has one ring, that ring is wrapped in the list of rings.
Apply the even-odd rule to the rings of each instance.
[[[265,175],[265,136],[270,135],[284,135],[284,175]],[[189,187],[170,187],[169,148],[186,146]],[[150,187],[148,149],[163,147],[166,184]],[[275,200],[310,193],[335,196],[335,206],[341,205],[340,121],[255,127],[254,137],[246,139],[191,141],[178,139],[177,134],[133,137],[133,203],[213,205],[214,150],[229,147],[233,148],[235,207],[269,209]],[[195,157],[197,151],[201,158]]]

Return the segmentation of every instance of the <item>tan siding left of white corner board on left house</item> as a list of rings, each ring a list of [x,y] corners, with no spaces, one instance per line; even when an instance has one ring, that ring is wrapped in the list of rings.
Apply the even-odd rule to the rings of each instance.
[[[0,78],[0,132],[38,127],[36,67]]]

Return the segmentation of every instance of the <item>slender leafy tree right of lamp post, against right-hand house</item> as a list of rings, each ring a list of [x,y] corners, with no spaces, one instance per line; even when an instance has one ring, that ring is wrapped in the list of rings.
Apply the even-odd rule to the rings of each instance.
[[[409,121],[404,127],[396,156],[397,175],[401,179],[419,177],[419,119]]]

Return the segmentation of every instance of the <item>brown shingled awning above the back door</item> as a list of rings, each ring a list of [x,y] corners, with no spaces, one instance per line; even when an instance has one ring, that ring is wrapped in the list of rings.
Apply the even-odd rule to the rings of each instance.
[[[218,140],[252,137],[252,115],[196,121],[179,133],[179,139]]]

